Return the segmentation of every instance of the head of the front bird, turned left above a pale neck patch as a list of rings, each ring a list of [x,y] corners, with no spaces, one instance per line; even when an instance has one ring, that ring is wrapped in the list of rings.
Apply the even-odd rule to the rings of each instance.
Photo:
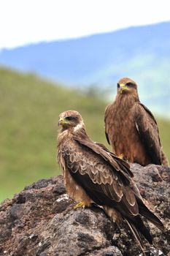
[[[80,127],[83,125],[82,116],[74,110],[64,111],[59,115],[58,125],[63,129]]]

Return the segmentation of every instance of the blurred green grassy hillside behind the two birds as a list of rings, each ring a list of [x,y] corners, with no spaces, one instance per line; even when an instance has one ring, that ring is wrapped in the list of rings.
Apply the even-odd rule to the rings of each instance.
[[[80,111],[90,137],[107,145],[103,121],[106,103],[100,99],[2,68],[0,91],[0,200],[39,178],[60,173],[55,154],[58,114],[63,110]],[[159,124],[170,158],[170,124]]]

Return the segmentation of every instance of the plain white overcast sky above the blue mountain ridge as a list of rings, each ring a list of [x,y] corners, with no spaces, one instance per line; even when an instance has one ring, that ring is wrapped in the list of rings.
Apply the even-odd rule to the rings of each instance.
[[[170,20],[169,0],[0,0],[0,48]]]

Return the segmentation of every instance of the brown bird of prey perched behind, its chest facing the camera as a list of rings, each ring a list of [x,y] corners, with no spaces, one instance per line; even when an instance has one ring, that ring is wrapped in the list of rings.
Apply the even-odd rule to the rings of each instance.
[[[118,81],[115,102],[107,106],[104,121],[107,141],[115,154],[144,166],[169,166],[155,118],[139,101],[134,80]]]

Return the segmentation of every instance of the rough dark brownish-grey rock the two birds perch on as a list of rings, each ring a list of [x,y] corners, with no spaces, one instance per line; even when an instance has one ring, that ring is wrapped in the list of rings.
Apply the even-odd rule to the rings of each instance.
[[[170,169],[136,164],[131,168],[145,203],[166,227],[162,233],[150,224],[155,244],[145,243],[146,255],[168,255]],[[4,200],[0,205],[0,255],[142,255],[124,222],[117,227],[101,208],[74,209],[74,204],[66,195],[62,176],[38,181]]]

